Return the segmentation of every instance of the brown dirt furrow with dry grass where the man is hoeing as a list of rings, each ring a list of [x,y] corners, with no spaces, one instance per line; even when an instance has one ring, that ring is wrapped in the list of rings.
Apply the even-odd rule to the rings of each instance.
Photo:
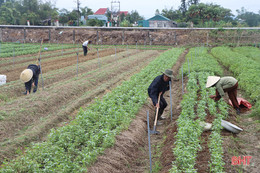
[[[177,75],[182,63],[185,60],[186,50],[177,63],[173,66],[174,75]],[[157,130],[161,132],[160,135],[151,135],[151,146],[153,153],[153,165],[155,160],[158,159],[158,154],[155,151],[156,146],[161,146],[164,136],[167,135],[165,145],[161,148],[162,157],[159,158],[164,165],[164,170],[168,170],[171,167],[172,162],[172,146],[174,135],[172,129],[176,127],[175,120],[179,115],[180,101],[182,98],[182,82],[181,80],[173,81],[172,86],[172,98],[173,98],[173,121],[170,120],[170,97],[169,92],[165,94],[165,99],[168,102],[168,107],[165,109],[164,116],[167,116],[167,120],[163,120],[163,125],[157,127]],[[149,101],[148,101],[149,102]],[[150,112],[150,124],[153,127],[152,116],[154,115],[154,107],[150,104],[144,105],[136,118],[133,120],[129,129],[122,132],[116,137],[116,143],[112,148],[105,150],[104,155],[99,156],[97,162],[88,168],[88,172],[91,173],[132,173],[132,172],[149,172],[149,150],[148,150],[148,136],[147,136],[147,110]],[[175,129],[176,130],[176,129]],[[172,132],[172,133],[171,133]],[[169,147],[171,146],[171,147]],[[157,155],[157,156],[156,156]],[[171,155],[171,156],[169,156]],[[156,156],[156,157],[155,157]],[[167,166],[165,166],[167,165]],[[163,171],[162,171],[163,172]]]

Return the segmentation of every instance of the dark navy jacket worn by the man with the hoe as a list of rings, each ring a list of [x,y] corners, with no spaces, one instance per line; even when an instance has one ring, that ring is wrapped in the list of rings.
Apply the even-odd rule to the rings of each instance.
[[[165,82],[163,80],[163,75],[157,76],[153,82],[150,84],[148,88],[148,95],[153,101],[153,105],[155,106],[158,102],[159,93],[162,92],[161,97],[165,91],[170,89],[169,82]]]

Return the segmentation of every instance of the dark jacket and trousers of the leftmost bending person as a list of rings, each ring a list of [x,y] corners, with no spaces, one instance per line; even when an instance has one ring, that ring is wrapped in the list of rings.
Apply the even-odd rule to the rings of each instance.
[[[35,88],[37,88],[38,86],[38,79],[39,79],[39,74],[40,74],[40,66],[37,66],[35,64],[30,64],[27,69],[31,69],[33,72],[33,77],[31,80],[29,80],[28,82],[25,83],[25,88],[26,91],[31,92],[31,88],[32,88],[32,83],[34,82]],[[37,90],[37,89],[36,89]]]

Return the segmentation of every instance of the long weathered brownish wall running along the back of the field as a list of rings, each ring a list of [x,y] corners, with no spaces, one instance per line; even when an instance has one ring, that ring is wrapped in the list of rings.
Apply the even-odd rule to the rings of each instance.
[[[61,32],[62,31],[62,32]],[[61,34],[60,34],[61,33]],[[260,43],[260,28],[40,27],[0,25],[0,41],[135,45],[219,45]]]

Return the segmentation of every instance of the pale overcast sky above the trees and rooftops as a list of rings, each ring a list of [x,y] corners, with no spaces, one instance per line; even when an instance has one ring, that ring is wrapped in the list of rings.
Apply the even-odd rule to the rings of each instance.
[[[65,8],[72,10],[77,7],[77,0],[53,0],[56,1],[56,7],[59,9]],[[159,9],[161,12],[163,9],[170,9],[173,7],[174,10],[178,9],[181,0],[113,0],[120,2],[120,11],[137,10],[140,16],[145,19],[151,18],[155,14],[155,10]],[[79,0],[80,7],[88,7],[96,12],[99,8],[111,9],[112,0]],[[224,8],[232,10],[234,15],[237,15],[236,10],[245,7],[249,12],[258,13],[260,10],[260,0],[200,0],[202,3],[213,3],[221,5]]]

